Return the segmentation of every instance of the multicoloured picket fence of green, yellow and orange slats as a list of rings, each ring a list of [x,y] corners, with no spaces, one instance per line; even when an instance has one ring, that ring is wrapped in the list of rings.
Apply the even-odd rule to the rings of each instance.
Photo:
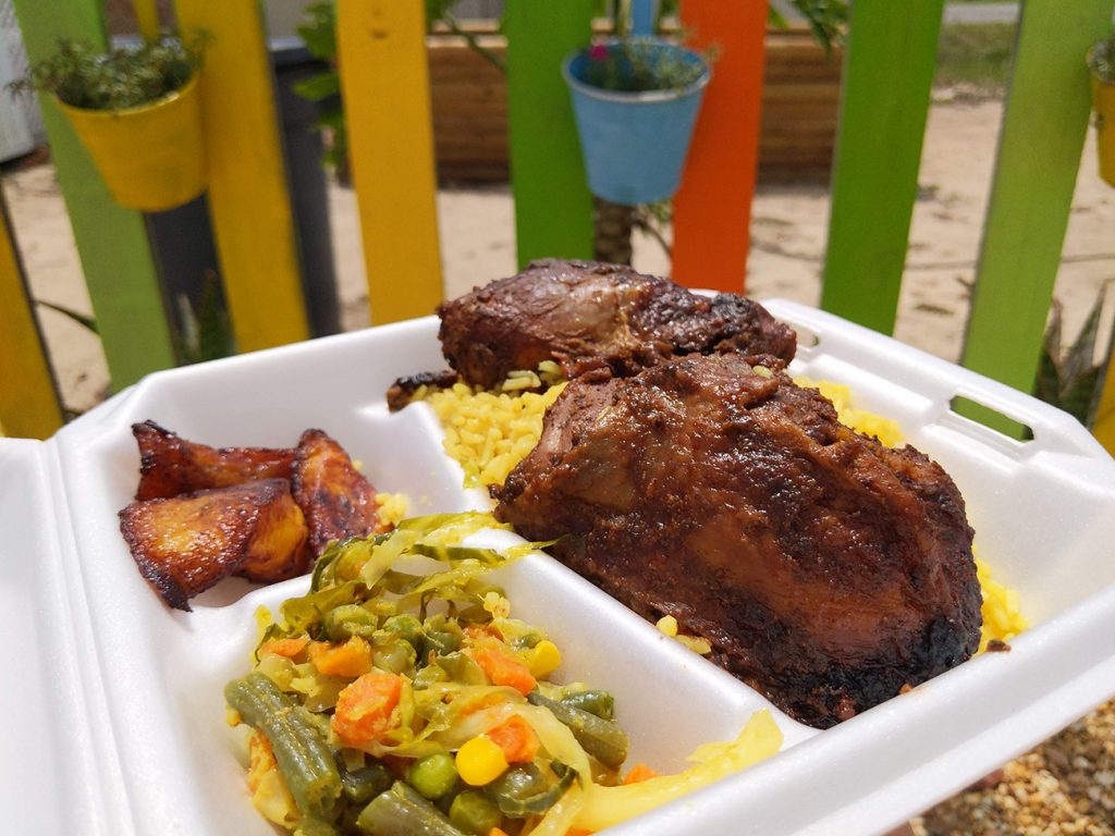
[[[59,37],[105,45],[100,2],[16,0],[31,59]],[[856,0],[845,51],[822,304],[883,332],[892,331],[898,307],[942,7],[943,0]],[[153,0],[136,0],[136,8],[149,31],[157,21]],[[423,9],[420,0],[338,0],[375,323],[427,313],[443,292]],[[261,4],[176,0],[176,10],[184,28],[214,36],[203,78],[209,203],[237,344],[248,351],[306,339]],[[505,3],[521,263],[592,253],[592,198],[559,72],[562,58],[589,40],[592,10],[591,0]],[[695,41],[716,42],[720,55],[676,200],[675,278],[741,291],[766,4],[687,0],[685,12]],[[1111,16],[1112,0],[1024,3],[963,354],[966,366],[1020,389],[1034,380],[1088,124],[1080,57]],[[120,388],[175,361],[145,218],[113,203],[69,125],[49,101],[43,109],[113,385]],[[45,436],[61,416],[43,373],[49,364],[38,339],[28,338],[33,315],[14,260],[0,259],[0,354],[29,358],[2,367],[9,397],[0,399],[0,421],[10,432]],[[22,324],[9,325],[9,317]],[[1115,449],[1115,386],[1106,389],[1096,431]],[[38,416],[30,424],[22,422],[28,410]]]

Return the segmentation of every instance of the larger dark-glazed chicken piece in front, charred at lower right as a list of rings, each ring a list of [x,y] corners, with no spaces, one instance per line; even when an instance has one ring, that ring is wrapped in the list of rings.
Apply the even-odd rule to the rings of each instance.
[[[496,516],[641,615],[825,728],[979,643],[972,532],[911,447],[836,420],[815,389],[738,354],[572,381],[493,493]]]

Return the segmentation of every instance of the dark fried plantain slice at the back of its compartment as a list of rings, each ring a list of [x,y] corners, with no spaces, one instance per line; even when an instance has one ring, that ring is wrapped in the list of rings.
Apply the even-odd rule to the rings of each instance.
[[[294,450],[273,447],[209,447],[187,441],[155,421],[133,424],[139,445],[136,499],[155,499],[254,479],[289,479]]]

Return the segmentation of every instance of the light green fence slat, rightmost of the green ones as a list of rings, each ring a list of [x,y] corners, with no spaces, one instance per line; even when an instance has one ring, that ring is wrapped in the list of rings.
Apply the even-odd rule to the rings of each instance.
[[[1022,3],[962,362],[1027,392],[1088,128],[1084,56],[1109,30],[1112,7]]]

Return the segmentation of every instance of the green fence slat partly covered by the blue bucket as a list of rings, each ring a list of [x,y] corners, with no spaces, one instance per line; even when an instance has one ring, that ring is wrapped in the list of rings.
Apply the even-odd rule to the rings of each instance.
[[[592,195],[569,89],[566,55],[589,41],[592,0],[507,0],[507,120],[520,266],[592,257]]]

